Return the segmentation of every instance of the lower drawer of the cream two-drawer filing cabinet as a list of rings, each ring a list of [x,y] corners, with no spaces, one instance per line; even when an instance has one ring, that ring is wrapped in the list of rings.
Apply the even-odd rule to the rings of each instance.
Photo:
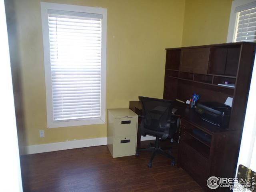
[[[136,153],[136,136],[114,138],[113,157],[135,155],[135,153]]]

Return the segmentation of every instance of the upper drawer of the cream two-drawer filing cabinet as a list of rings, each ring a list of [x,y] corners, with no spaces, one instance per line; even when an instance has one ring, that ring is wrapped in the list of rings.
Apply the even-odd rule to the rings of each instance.
[[[137,118],[116,118],[114,120],[114,137],[136,136],[137,133]]]

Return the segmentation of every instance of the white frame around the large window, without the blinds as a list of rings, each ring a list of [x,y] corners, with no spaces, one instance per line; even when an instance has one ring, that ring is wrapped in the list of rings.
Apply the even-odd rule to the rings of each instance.
[[[100,118],[89,118],[83,120],[68,120],[63,122],[54,122],[52,105],[52,82],[51,82],[51,64],[50,64],[50,42],[48,28],[48,9],[85,12],[92,14],[102,14],[102,52],[101,52],[101,90],[100,90]],[[44,72],[46,86],[46,112],[47,127],[68,127],[82,126],[92,124],[104,124],[106,121],[106,31],[107,31],[107,9],[98,7],[76,6],[68,4],[56,4],[41,2],[42,31],[44,44]]]

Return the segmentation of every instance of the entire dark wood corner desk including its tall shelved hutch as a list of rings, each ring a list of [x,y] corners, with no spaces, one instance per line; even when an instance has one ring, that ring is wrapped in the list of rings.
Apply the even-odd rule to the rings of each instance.
[[[233,98],[228,130],[201,120],[184,105],[176,112],[181,116],[178,166],[205,191],[209,176],[235,176],[255,52],[256,44],[250,42],[166,49],[163,99],[186,101],[194,93],[200,95],[199,102],[224,103]],[[139,102],[130,102],[130,109],[141,114]],[[193,130],[208,134],[211,140],[198,138]]]

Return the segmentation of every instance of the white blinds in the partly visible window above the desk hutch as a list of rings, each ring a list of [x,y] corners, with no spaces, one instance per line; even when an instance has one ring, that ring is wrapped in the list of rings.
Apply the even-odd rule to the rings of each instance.
[[[256,42],[256,4],[247,4],[236,8],[238,20],[235,33],[235,42]],[[245,10],[244,10],[245,9]]]

